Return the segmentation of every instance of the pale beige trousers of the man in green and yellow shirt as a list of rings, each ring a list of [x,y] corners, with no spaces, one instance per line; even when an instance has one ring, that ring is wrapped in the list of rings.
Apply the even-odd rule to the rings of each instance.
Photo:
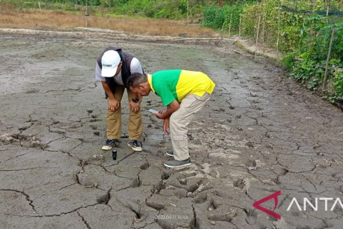
[[[209,99],[210,94],[207,92],[202,97],[189,94],[182,100],[179,110],[170,116],[169,128],[175,160],[189,158],[187,126]]]

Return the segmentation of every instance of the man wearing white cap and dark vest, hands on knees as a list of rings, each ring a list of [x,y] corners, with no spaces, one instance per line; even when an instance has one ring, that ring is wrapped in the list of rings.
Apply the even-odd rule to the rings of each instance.
[[[123,53],[121,48],[107,47],[98,57],[95,67],[95,78],[101,81],[108,100],[106,113],[107,140],[102,147],[110,150],[119,145],[121,136],[121,106],[120,101],[127,88],[130,115],[128,133],[130,146],[134,151],[142,151],[142,114],[140,103],[142,97],[133,93],[127,87],[127,81],[134,72],[144,73],[141,63],[134,56]]]

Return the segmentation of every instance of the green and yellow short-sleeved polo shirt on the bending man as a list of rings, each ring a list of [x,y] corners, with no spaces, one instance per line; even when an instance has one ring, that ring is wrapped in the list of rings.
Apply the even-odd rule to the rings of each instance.
[[[202,72],[187,70],[163,70],[147,75],[152,91],[161,97],[164,106],[174,100],[181,102],[188,94],[202,97],[211,94],[215,84]]]

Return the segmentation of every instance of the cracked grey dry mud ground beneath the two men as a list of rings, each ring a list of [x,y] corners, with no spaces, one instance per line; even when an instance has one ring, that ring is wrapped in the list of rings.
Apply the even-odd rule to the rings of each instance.
[[[107,103],[94,67],[108,45],[146,72],[199,70],[215,81],[189,128],[190,167],[163,167],[169,137],[146,112],[161,107],[155,95],[142,103],[143,152],[126,146],[126,96],[117,160],[100,149]],[[223,44],[104,34],[2,33],[0,48],[0,228],[343,227],[339,206],[286,211],[293,197],[342,197],[343,115],[281,69]],[[253,209],[278,190],[281,220]]]

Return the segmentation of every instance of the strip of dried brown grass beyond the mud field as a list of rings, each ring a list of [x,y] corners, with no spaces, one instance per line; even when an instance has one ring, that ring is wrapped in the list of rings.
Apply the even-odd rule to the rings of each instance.
[[[68,30],[71,27],[85,27],[85,16],[63,11],[13,11],[3,10],[0,14],[1,28],[33,28],[44,29],[49,27],[58,30]],[[218,34],[209,28],[200,28],[199,24],[190,24],[185,21],[157,20],[149,18],[113,18],[87,17],[87,27],[106,28],[124,31],[128,34],[159,35],[159,36],[188,36],[213,37]]]

